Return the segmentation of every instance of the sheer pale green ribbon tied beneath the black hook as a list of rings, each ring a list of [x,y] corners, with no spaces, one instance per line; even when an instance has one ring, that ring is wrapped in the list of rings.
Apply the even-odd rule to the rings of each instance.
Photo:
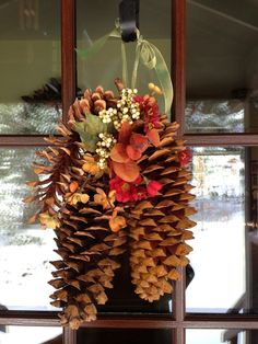
[[[119,38],[121,41],[121,32],[119,23],[116,22],[115,28],[103,37],[98,38],[86,49],[77,49],[79,56],[83,58],[89,58],[90,56],[98,53],[108,38]],[[128,67],[127,67],[127,55],[125,43],[121,41],[121,62],[122,62],[122,82],[128,85]],[[171,74],[167,69],[166,62],[157,49],[152,43],[143,39],[140,32],[137,31],[137,45],[136,45],[136,60],[133,65],[132,76],[131,76],[131,88],[136,88],[138,67],[142,62],[150,70],[154,70],[157,80],[161,85],[161,90],[164,96],[165,113],[168,114],[173,101],[173,84],[171,80]]]

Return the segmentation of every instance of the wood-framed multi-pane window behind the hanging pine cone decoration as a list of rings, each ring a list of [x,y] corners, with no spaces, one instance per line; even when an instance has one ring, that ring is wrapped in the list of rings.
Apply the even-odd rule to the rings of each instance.
[[[84,47],[112,30],[117,13],[115,0],[20,0],[0,7],[0,342],[11,343],[19,335],[32,344],[98,344],[110,339],[255,344],[258,1],[254,0],[141,1],[141,33],[171,65],[173,117],[194,152],[199,213],[192,270],[184,272],[173,296],[159,307],[136,301],[131,290],[115,290],[97,321],[78,332],[64,329],[61,334],[58,312],[49,308],[51,233],[26,225],[33,209],[22,207],[24,182],[31,179],[34,151],[47,145],[43,138],[55,131],[60,116],[66,118],[78,88],[110,87],[114,72],[119,72],[115,43],[87,64],[74,54],[75,46]],[[127,49],[130,64],[130,46]],[[118,285],[126,275],[117,277]]]

